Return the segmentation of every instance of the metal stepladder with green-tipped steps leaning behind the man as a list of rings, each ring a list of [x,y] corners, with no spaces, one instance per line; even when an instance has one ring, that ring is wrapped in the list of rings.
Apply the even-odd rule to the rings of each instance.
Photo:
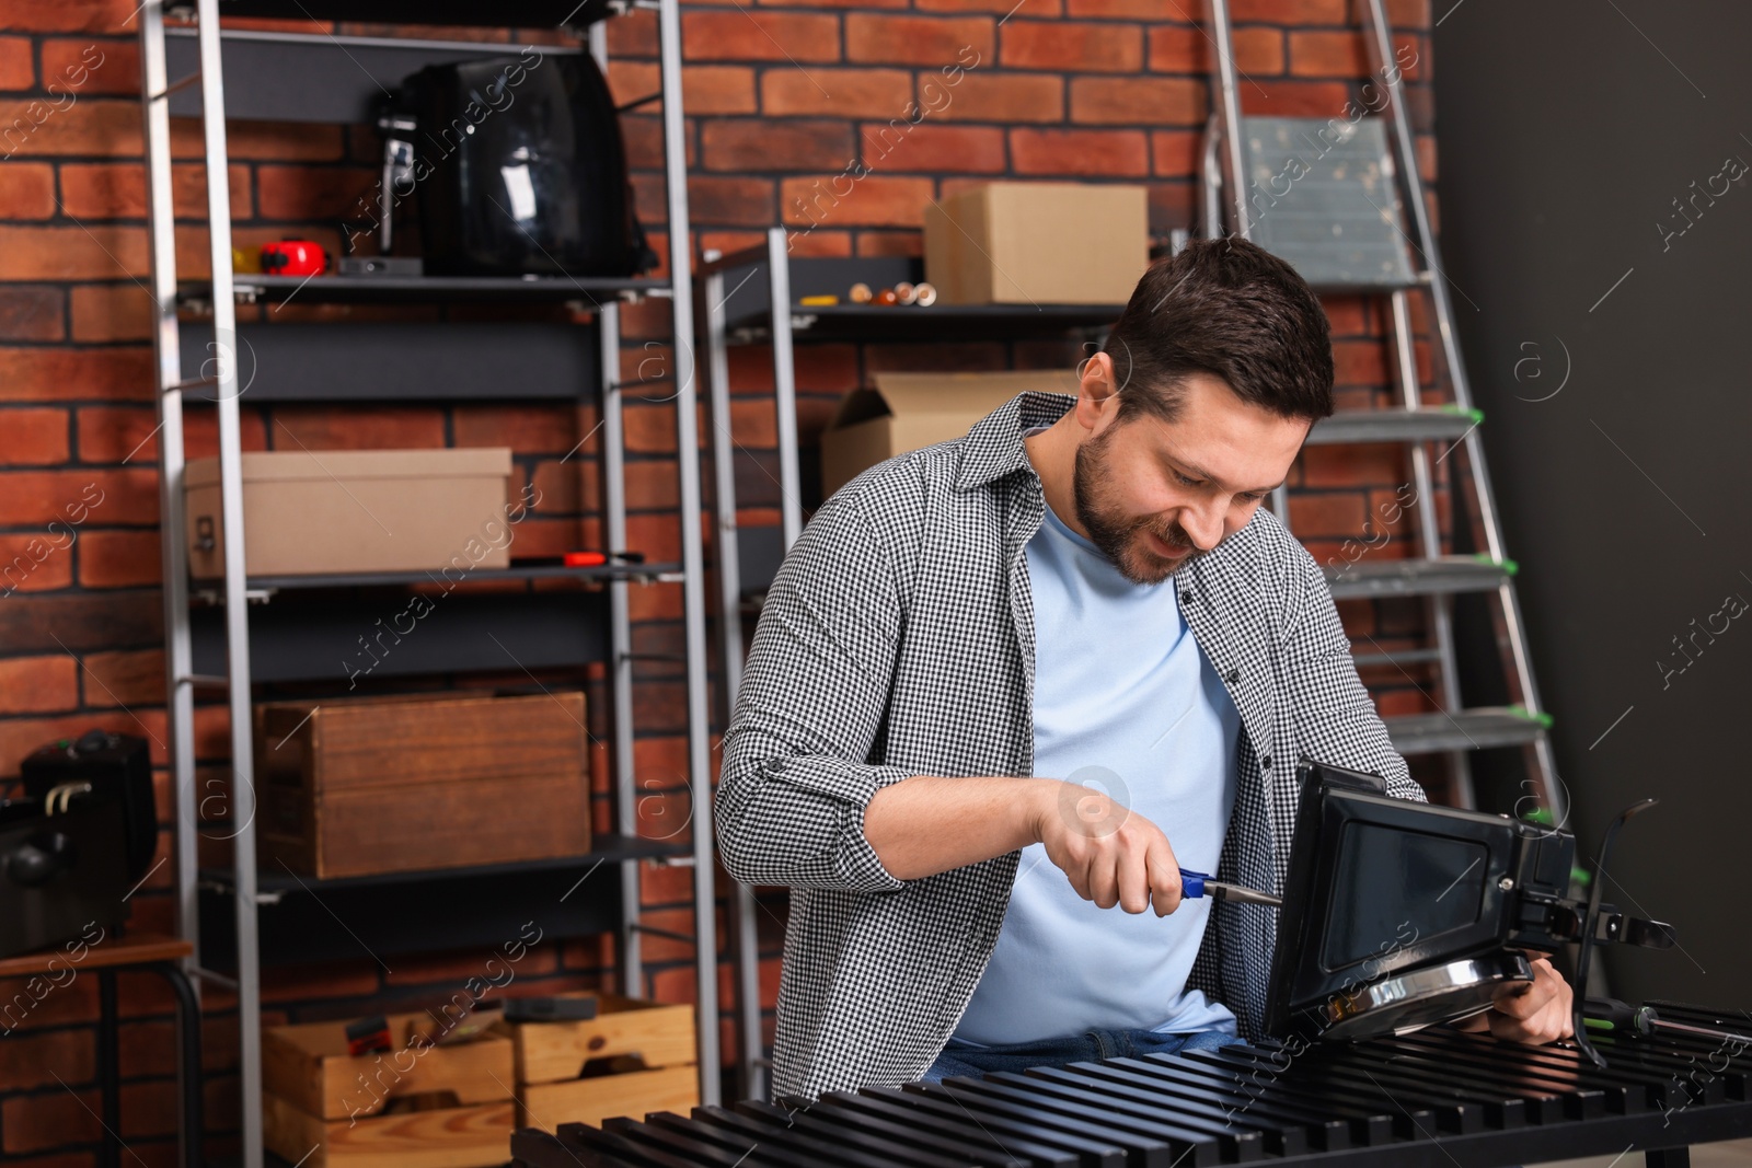
[[[1247,114],[1244,74],[1235,63],[1228,0],[1211,0],[1207,33],[1216,46],[1212,114],[1202,165],[1202,235],[1239,236],[1289,263],[1321,296],[1361,305],[1379,324],[1389,394],[1356,408],[1346,401],[1318,422],[1310,448],[1396,447],[1405,478],[1370,499],[1363,531],[1316,559],[1335,601],[1412,601],[1421,608],[1417,644],[1353,634],[1360,672],[1382,685],[1416,688],[1423,709],[1386,713],[1395,749],[1445,760],[1445,802],[1479,807],[1477,751],[1519,749],[1517,790],[1493,790],[1489,811],[1565,823],[1568,797],[1551,744],[1551,716],[1533,676],[1515,594],[1517,564],[1503,546],[1501,522],[1454,324],[1451,282],[1442,270],[1417,142],[1405,100],[1416,51],[1396,44],[1384,0],[1360,0],[1356,32],[1372,74],[1356,98],[1330,117]],[[1423,331],[1419,329],[1423,326]],[[1426,376],[1419,338],[1428,334]],[[1342,450],[1305,452],[1330,459]],[[1272,499],[1289,525],[1289,490]],[[1480,681],[1456,636],[1461,597],[1480,597],[1500,672]],[[1344,606],[1340,609],[1356,608]],[[1482,618],[1480,618],[1482,620]],[[1498,700],[1468,700],[1466,688],[1496,690]],[[1507,700],[1501,700],[1507,695]],[[1501,806],[1498,806],[1501,804]]]

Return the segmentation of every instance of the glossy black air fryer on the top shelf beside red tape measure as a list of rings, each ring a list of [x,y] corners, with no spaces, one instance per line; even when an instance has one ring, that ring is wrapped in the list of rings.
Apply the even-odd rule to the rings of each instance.
[[[426,275],[631,277],[655,264],[615,102],[587,53],[433,65],[403,82],[396,112],[389,145],[412,145],[396,193],[417,193]]]

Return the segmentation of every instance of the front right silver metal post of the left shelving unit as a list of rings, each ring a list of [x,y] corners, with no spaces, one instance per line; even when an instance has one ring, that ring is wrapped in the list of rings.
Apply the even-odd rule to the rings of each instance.
[[[711,749],[706,702],[704,548],[699,508],[699,406],[694,385],[692,243],[682,119],[680,0],[659,0],[664,187],[669,196],[669,308],[675,331],[675,431],[682,487],[682,616],[687,643],[687,758],[694,795],[694,946],[699,1009],[699,1098],[720,1098],[717,881],[711,860]]]

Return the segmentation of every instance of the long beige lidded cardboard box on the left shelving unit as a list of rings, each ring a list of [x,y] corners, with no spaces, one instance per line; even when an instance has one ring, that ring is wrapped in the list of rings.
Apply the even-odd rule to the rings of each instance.
[[[263,450],[244,455],[244,562],[251,576],[508,567],[508,447],[477,450]],[[184,471],[189,571],[224,571],[219,459]]]

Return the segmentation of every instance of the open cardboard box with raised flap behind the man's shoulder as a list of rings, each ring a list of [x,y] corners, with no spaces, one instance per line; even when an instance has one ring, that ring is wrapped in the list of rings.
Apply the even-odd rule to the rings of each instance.
[[[858,471],[908,450],[965,434],[1020,392],[1076,394],[1072,369],[1002,373],[878,373],[853,389],[822,433],[822,497]]]

